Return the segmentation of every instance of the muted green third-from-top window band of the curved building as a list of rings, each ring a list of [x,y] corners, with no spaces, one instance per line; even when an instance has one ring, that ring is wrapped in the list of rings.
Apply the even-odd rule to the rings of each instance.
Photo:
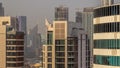
[[[94,40],[94,48],[120,49],[120,39]]]

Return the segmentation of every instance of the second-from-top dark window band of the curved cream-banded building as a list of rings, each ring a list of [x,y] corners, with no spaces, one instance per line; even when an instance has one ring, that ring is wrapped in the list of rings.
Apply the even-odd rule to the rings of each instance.
[[[111,22],[94,25],[94,33],[120,32],[120,22]]]

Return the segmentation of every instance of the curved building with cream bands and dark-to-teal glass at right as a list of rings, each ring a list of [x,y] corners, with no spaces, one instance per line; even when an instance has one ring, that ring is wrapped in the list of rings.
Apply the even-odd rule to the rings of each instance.
[[[120,67],[120,4],[94,9],[93,68]]]

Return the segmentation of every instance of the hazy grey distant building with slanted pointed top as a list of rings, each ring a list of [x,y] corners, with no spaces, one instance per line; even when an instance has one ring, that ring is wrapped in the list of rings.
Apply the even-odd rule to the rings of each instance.
[[[38,25],[27,33],[27,58],[38,58],[40,55],[41,34],[38,33]]]

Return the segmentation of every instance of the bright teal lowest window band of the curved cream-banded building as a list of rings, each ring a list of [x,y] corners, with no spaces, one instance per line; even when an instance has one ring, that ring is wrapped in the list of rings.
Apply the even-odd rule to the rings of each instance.
[[[109,66],[120,66],[120,56],[94,56],[94,63]]]

